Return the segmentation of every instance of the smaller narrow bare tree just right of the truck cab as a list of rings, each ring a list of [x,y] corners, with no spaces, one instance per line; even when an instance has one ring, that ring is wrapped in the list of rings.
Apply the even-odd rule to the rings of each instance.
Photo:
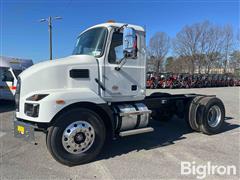
[[[170,37],[164,32],[157,32],[149,42],[149,54],[156,61],[156,72],[159,74],[164,58],[170,48]]]

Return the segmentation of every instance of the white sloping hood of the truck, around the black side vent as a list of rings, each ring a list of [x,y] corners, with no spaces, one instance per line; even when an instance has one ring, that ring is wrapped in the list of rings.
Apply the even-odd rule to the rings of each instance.
[[[84,80],[71,78],[71,69],[88,69],[90,77]],[[73,55],[41,62],[20,74],[21,96],[46,90],[91,86],[91,79],[97,78],[97,72],[96,59],[89,55]]]

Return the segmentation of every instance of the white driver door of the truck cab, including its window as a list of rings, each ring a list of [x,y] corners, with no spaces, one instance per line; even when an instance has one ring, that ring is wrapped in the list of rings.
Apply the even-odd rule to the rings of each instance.
[[[104,66],[105,98],[112,101],[134,100],[133,97],[142,95],[145,86],[145,68],[137,58],[126,59],[125,64],[118,71],[119,63],[123,60],[123,33],[112,33],[111,43]],[[144,85],[143,85],[144,84]]]

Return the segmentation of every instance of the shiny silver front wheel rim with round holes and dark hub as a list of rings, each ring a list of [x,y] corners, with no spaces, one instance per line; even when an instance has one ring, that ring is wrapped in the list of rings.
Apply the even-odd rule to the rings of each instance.
[[[71,123],[63,132],[62,144],[66,151],[80,154],[87,151],[95,139],[94,128],[86,121]]]

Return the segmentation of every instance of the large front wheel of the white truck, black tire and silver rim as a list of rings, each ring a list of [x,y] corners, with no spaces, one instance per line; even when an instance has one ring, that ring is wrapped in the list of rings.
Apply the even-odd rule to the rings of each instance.
[[[47,147],[58,162],[80,165],[92,161],[101,151],[106,132],[95,112],[76,108],[65,112],[47,133]]]

